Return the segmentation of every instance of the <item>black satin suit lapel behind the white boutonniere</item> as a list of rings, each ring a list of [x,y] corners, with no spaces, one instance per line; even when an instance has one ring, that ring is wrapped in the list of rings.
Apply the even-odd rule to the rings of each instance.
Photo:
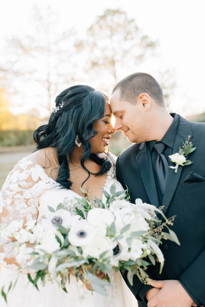
[[[175,138],[172,154],[179,152],[179,146],[180,147],[183,146],[182,142],[185,142],[185,138],[187,138],[188,135],[191,135],[191,137],[193,136],[191,127],[190,127],[190,123],[186,119],[181,117],[180,115],[178,116],[179,116],[179,126],[178,126],[177,135]],[[175,166],[175,163],[172,163],[170,161],[169,165]],[[166,186],[164,190],[164,198],[163,198],[163,203],[162,203],[162,206],[164,206],[164,211],[163,211],[164,214],[166,214],[167,209],[170,205],[171,199],[175,193],[175,190],[179,183],[179,179],[181,177],[181,173],[184,167],[186,166],[179,165],[177,173],[174,172],[174,169],[171,169],[169,167],[167,182],[166,182]]]

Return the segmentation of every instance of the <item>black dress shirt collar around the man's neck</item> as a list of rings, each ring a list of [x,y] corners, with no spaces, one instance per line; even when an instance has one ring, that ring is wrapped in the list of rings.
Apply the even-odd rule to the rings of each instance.
[[[167,132],[164,134],[163,138],[160,140],[160,142],[163,142],[165,145],[171,147],[172,149],[174,148],[174,142],[175,142],[175,137],[177,134],[178,130],[178,125],[179,125],[179,116],[175,113],[170,114],[174,119],[173,122],[171,123],[171,126],[167,130]],[[152,152],[153,146],[157,143],[156,140],[149,141],[149,148],[150,152]]]

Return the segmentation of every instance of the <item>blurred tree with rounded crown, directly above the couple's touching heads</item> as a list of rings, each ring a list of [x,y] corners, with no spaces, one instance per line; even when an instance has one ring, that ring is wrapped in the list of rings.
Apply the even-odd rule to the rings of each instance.
[[[156,46],[157,42],[144,35],[135,20],[119,9],[105,10],[87,30],[87,38],[76,43],[77,50],[88,58],[86,72],[95,72],[94,78],[97,76],[106,87],[126,76],[128,68],[137,71],[137,65],[153,54]]]

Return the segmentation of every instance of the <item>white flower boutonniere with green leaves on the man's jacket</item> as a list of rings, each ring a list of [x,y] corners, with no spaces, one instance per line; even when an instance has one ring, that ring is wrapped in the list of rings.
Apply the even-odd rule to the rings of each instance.
[[[179,152],[172,154],[171,156],[169,156],[169,160],[173,163],[176,163],[176,166],[169,166],[171,169],[175,169],[175,173],[177,173],[178,167],[179,165],[185,166],[185,165],[189,165],[191,163],[194,163],[190,160],[187,160],[185,157],[189,154],[192,153],[196,147],[193,147],[193,144],[189,141],[191,138],[190,135],[188,135],[188,138],[186,139],[186,142],[182,142],[183,143],[183,147],[179,147]]]

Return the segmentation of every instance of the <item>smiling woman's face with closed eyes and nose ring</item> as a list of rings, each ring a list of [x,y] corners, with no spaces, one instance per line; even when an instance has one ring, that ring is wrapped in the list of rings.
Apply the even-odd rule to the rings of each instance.
[[[110,105],[105,101],[104,117],[93,122],[93,128],[97,131],[97,134],[89,140],[92,153],[103,153],[105,146],[108,146],[110,134],[114,133],[114,128],[110,122],[111,116]]]

